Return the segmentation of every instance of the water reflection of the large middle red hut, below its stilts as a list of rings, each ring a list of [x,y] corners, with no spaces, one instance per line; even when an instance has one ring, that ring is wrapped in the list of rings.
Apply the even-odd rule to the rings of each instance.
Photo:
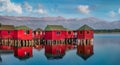
[[[60,59],[65,55],[64,44],[45,45],[45,55],[47,59]]]

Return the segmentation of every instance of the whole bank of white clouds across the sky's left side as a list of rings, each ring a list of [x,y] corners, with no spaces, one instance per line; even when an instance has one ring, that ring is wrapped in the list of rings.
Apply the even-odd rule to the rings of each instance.
[[[33,14],[47,14],[47,11],[41,4],[36,7],[32,7],[28,2],[24,2],[21,6],[20,4],[13,3],[11,0],[0,0],[0,12],[5,13],[33,13]]]

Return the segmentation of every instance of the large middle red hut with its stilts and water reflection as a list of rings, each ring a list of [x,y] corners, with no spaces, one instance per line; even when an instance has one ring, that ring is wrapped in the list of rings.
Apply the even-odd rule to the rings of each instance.
[[[45,55],[48,59],[62,58],[65,54],[65,29],[61,25],[48,25],[45,28]]]

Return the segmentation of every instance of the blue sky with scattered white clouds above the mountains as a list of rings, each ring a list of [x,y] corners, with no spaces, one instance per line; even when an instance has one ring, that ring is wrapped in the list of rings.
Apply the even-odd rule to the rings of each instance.
[[[0,15],[120,20],[120,0],[0,0]]]

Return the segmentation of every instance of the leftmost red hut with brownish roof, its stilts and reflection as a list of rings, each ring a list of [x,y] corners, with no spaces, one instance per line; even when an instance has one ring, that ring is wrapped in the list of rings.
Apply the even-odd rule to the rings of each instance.
[[[13,25],[0,25],[0,49],[2,50],[12,50],[11,40],[14,35]]]

